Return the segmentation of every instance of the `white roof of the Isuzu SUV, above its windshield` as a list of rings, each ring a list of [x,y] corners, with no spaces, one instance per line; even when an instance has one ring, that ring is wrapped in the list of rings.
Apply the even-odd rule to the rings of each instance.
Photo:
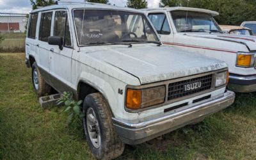
[[[37,8],[31,13],[34,12],[44,12],[46,10],[54,10],[54,9],[60,9],[60,8],[68,8],[68,9],[74,9],[74,8],[93,8],[93,9],[109,9],[109,10],[124,10],[128,12],[138,12],[143,13],[140,10],[135,10],[133,8],[127,8],[127,7],[120,7],[120,6],[113,6],[110,4],[100,4],[100,3],[59,3],[59,4],[52,4],[49,6],[44,6],[42,8]]]

